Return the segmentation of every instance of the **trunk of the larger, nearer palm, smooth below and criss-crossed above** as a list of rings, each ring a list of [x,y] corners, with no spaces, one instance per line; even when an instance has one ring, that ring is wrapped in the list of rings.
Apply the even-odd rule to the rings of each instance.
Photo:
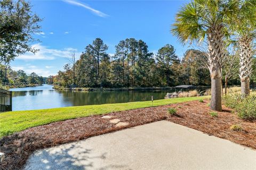
[[[213,26],[207,33],[209,42],[209,70],[211,73],[211,109],[214,111],[222,111],[221,107],[221,64],[223,58],[223,32],[222,26]]]

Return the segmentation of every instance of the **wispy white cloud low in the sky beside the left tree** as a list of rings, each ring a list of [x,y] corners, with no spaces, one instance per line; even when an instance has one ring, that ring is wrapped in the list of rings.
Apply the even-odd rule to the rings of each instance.
[[[75,48],[66,48],[63,50],[60,49],[51,49],[41,44],[34,44],[32,46],[35,49],[39,49],[36,54],[33,53],[26,53],[19,57],[17,60],[54,60],[55,58],[62,57],[62,58],[71,58],[71,52],[75,51],[76,56],[80,56],[81,53],[77,52]],[[72,49],[72,50],[71,50]]]

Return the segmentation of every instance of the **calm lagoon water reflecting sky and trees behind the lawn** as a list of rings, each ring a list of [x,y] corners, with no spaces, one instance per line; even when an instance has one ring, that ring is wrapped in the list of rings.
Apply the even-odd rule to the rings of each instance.
[[[57,108],[66,106],[99,105],[163,99],[170,90],[147,91],[58,91],[53,86],[15,88],[12,91],[13,111]]]

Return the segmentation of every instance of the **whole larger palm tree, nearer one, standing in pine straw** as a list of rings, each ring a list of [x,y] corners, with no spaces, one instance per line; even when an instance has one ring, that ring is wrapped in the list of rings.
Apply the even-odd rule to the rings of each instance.
[[[183,6],[176,15],[171,32],[181,43],[201,43],[208,46],[208,64],[211,74],[211,109],[221,111],[223,42],[227,25],[233,22],[239,10],[238,0],[194,0]]]

